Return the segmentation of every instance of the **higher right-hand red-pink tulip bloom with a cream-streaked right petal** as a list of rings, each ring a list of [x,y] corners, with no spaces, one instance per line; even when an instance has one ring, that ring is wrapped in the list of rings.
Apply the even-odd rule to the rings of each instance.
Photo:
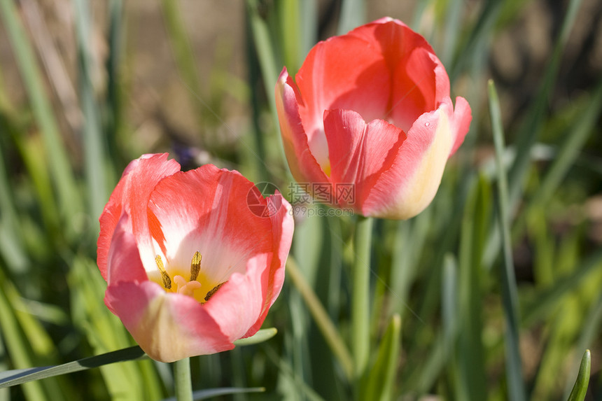
[[[395,219],[430,204],[472,118],[462,97],[454,109],[426,40],[388,17],[315,45],[295,80],[284,68],[276,107],[297,182],[330,191],[331,206]]]

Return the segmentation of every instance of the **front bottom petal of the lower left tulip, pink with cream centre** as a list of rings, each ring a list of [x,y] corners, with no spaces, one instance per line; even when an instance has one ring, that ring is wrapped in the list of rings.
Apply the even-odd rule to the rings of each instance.
[[[155,360],[174,362],[234,348],[202,304],[193,297],[166,293],[153,281],[109,286],[105,303]]]

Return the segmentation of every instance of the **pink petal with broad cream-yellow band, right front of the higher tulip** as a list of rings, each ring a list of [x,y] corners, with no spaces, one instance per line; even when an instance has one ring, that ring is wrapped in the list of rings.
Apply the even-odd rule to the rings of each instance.
[[[451,117],[444,102],[414,122],[391,168],[381,174],[367,198],[366,216],[406,219],[430,204],[456,140]]]

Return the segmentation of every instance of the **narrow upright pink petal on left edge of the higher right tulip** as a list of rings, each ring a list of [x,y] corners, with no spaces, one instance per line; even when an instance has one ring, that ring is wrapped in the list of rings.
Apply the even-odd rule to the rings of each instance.
[[[288,167],[297,182],[327,183],[328,177],[309,150],[307,134],[299,115],[297,101],[302,102],[300,96],[293,78],[288,76],[286,68],[283,69],[276,83],[276,111]]]

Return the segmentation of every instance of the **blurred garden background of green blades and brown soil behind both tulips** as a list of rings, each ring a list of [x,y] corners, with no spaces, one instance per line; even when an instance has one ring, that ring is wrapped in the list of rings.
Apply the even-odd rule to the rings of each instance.
[[[0,0],[0,370],[134,345],[104,306],[95,263],[97,218],[127,162],[169,152],[184,169],[237,169],[286,195],[279,72],[293,75],[316,41],[386,15],[430,41],[473,120],[433,204],[374,224],[372,370],[401,317],[395,376],[379,397],[566,400],[591,349],[586,399],[602,399],[596,0]],[[342,342],[352,228],[350,217],[299,219],[291,252]],[[274,339],[193,358],[195,390],[348,399],[298,288],[288,279],[270,311]],[[0,400],[169,395],[171,368],[151,360],[0,390]]]

